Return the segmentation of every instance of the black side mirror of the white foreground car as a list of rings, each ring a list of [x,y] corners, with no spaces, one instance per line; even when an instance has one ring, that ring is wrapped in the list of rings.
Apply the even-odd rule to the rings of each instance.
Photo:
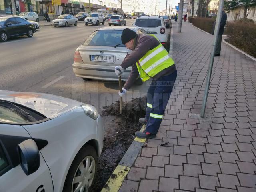
[[[26,175],[36,172],[40,166],[40,155],[36,142],[27,139],[18,144],[20,166]]]

